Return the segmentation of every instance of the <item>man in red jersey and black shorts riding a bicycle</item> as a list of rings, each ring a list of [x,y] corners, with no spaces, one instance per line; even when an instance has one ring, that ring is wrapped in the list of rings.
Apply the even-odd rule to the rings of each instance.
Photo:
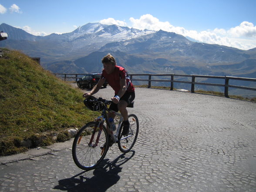
[[[113,101],[110,105],[110,109],[118,112],[124,118],[122,135],[128,135],[130,123],[128,121],[128,111],[126,107],[135,98],[135,88],[133,87],[130,78],[128,77],[125,68],[117,66],[115,58],[111,54],[107,54],[102,59],[103,71],[98,84],[92,88],[90,93],[84,93],[83,97],[88,98],[91,95],[97,93],[104,82],[107,80],[108,84],[115,91],[115,96],[111,98]],[[108,118],[115,118],[115,114],[108,113]]]

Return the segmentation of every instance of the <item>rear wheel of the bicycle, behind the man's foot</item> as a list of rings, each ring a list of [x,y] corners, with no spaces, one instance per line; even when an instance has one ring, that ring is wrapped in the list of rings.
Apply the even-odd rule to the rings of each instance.
[[[121,135],[123,125],[121,125],[118,133],[118,148],[123,153],[127,153],[131,150],[138,137],[139,123],[137,116],[134,114],[128,115],[128,121],[130,122],[129,134],[127,136]]]

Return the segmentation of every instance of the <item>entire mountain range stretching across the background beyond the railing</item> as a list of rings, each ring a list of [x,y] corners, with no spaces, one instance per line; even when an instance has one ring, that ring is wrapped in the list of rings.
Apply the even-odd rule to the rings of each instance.
[[[194,42],[163,30],[138,30],[118,25],[89,23],[66,34],[34,36],[8,24],[0,47],[40,57],[54,73],[102,70],[101,58],[111,53],[129,73],[202,74],[256,78],[256,48],[239,50]]]

